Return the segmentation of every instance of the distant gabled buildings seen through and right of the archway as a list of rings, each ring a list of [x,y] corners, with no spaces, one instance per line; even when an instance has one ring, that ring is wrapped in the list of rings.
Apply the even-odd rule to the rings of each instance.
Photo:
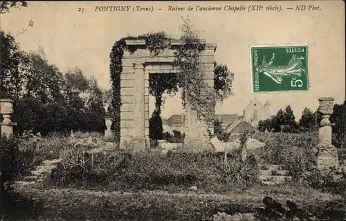
[[[243,116],[238,114],[215,114],[215,120],[221,121],[221,127],[230,134],[238,134],[244,132],[250,127],[257,127],[259,121],[266,120],[273,116],[271,104],[266,101],[264,105],[256,98],[244,109]],[[162,120],[163,131],[172,133],[173,130],[183,132],[184,115],[173,114],[168,119]]]

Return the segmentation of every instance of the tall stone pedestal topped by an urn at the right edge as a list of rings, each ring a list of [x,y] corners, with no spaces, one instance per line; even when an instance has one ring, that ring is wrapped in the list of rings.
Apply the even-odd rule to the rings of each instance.
[[[334,124],[329,121],[329,117],[333,114],[334,98],[319,98],[318,101],[320,102],[318,112],[322,116],[322,121],[318,131],[317,167],[320,170],[325,170],[333,166],[338,167],[338,151],[331,144],[331,126]]]

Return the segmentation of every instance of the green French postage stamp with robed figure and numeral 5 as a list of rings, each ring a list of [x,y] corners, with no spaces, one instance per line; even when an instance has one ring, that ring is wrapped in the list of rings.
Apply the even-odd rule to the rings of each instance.
[[[251,46],[253,93],[309,91],[308,47]]]

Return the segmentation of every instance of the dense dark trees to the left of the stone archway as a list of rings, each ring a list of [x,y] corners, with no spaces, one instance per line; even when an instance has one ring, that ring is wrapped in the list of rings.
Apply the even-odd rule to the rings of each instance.
[[[104,93],[95,78],[78,68],[63,74],[43,48],[21,51],[15,37],[3,30],[0,37],[0,97],[15,100],[16,132],[104,131]]]

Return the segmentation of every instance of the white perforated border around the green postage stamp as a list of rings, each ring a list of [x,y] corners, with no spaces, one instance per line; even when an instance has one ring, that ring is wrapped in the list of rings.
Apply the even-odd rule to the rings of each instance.
[[[253,58],[251,55],[251,49],[253,47],[282,47],[282,46],[307,46],[307,90],[289,90],[289,91],[254,91],[253,90]],[[309,93],[311,90],[311,82],[310,82],[310,44],[303,42],[290,42],[290,43],[263,43],[263,44],[250,44],[248,46],[249,51],[249,64],[250,64],[250,78],[249,85],[251,87],[251,94],[300,94],[300,93]]]

